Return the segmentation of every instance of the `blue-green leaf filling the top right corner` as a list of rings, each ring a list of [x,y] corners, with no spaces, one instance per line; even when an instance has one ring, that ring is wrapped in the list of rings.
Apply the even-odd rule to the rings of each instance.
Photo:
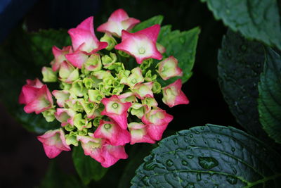
[[[248,39],[281,49],[280,16],[276,0],[204,0],[216,19]]]

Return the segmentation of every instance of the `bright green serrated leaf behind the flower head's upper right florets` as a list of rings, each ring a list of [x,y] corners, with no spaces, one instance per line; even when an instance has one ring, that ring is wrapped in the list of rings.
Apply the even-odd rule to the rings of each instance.
[[[163,58],[174,56],[178,59],[178,66],[183,70],[183,83],[188,81],[192,75],[192,68],[195,62],[195,54],[200,28],[195,27],[192,30],[180,32],[179,30],[171,31],[171,25],[161,27],[158,42],[166,48]],[[171,84],[179,77],[172,77],[169,80],[157,80],[162,86]]]

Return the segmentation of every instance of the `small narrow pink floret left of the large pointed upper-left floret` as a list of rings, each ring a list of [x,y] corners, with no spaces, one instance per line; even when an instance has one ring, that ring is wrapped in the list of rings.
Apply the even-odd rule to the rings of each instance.
[[[60,65],[63,61],[66,61],[65,54],[72,53],[71,46],[63,47],[63,49],[59,49],[57,46],[53,46],[53,56],[55,59],[51,62],[53,71],[57,71],[60,69]]]

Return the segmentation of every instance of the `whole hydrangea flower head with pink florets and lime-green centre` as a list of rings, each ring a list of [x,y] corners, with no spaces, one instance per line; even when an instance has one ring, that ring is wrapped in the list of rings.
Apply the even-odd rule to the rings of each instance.
[[[169,107],[188,104],[181,79],[160,84],[159,79],[183,75],[174,56],[162,60],[160,25],[131,33],[139,22],[118,9],[98,27],[105,32],[99,40],[93,17],[86,18],[68,31],[72,45],[53,46],[53,61],[41,70],[43,82],[58,82],[58,87],[50,92],[39,79],[22,87],[19,103],[25,112],[60,124],[38,137],[49,158],[81,145],[86,156],[108,168],[128,158],[126,144],[162,139],[173,116],[158,107],[155,96],[162,94]]]

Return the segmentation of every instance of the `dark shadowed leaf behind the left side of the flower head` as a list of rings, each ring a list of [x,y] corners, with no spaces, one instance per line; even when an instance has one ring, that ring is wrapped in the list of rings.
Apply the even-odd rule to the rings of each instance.
[[[56,120],[48,123],[41,114],[25,113],[24,106],[18,104],[18,96],[25,80],[41,79],[42,66],[49,65],[53,59],[52,46],[70,44],[66,38],[69,37],[63,30],[27,34],[18,29],[0,46],[0,100],[12,117],[29,131],[41,134],[60,127]]]

